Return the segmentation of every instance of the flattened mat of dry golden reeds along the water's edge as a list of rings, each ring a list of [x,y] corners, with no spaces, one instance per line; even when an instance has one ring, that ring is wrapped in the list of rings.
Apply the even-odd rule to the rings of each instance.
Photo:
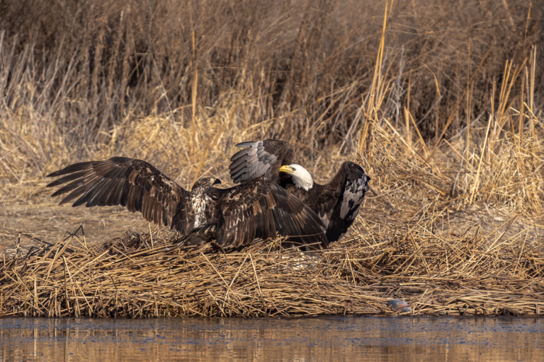
[[[240,252],[126,234],[2,256],[0,316],[375,315],[402,298],[420,315],[539,315],[544,253],[526,235],[382,228],[319,255],[255,243]]]

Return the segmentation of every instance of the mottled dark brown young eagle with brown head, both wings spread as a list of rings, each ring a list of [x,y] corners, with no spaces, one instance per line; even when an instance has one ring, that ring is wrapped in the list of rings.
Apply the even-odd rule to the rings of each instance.
[[[145,220],[163,223],[184,235],[184,245],[215,240],[224,247],[248,245],[255,238],[289,236],[285,247],[326,248],[324,225],[296,196],[264,177],[227,189],[220,180],[200,177],[183,189],[150,163],[135,158],[74,163],[47,177],[63,176],[47,187],[69,182],[52,197],[69,194],[60,205],[126,206]]]

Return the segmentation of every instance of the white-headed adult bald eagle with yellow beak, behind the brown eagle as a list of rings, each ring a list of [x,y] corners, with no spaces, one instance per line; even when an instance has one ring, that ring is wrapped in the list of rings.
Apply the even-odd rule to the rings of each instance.
[[[361,166],[346,161],[329,183],[319,185],[305,168],[293,164],[295,148],[289,142],[267,139],[236,146],[244,149],[230,159],[230,178],[234,183],[247,185],[266,177],[310,206],[327,228],[329,243],[347,232],[368,191],[370,177]]]

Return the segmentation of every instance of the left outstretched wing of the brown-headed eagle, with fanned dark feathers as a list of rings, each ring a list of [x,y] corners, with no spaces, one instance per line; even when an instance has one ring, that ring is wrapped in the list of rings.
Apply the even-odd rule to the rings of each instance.
[[[69,182],[53,197],[69,194],[60,205],[126,206],[140,211],[147,221],[164,223],[182,234],[193,230],[195,215],[190,192],[143,160],[113,157],[109,160],[74,163],[47,177],[63,176],[47,187]]]

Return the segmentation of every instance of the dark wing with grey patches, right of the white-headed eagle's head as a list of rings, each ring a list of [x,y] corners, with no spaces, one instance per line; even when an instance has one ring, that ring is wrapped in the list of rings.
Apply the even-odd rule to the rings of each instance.
[[[361,166],[353,162],[344,162],[331,182],[324,185],[324,189],[337,195],[327,201],[323,200],[318,211],[327,226],[329,242],[339,240],[355,221],[365,192],[368,191],[369,181],[370,177]]]

